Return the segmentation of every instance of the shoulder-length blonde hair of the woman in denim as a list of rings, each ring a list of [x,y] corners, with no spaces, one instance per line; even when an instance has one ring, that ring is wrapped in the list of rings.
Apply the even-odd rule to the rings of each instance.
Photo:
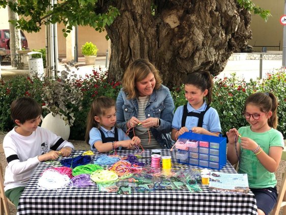
[[[154,74],[156,80],[155,89],[158,90],[162,84],[162,78],[153,64],[146,59],[137,59],[129,64],[122,79],[122,87],[127,94],[127,99],[139,96],[139,92],[135,87],[136,82],[145,79],[150,72]]]

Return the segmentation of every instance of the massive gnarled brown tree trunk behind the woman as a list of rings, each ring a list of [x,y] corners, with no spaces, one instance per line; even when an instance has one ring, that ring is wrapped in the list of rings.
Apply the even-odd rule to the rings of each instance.
[[[235,0],[113,2],[121,13],[106,28],[113,80],[121,80],[129,63],[138,58],[149,59],[168,87],[181,85],[187,73],[199,69],[217,75],[251,38],[251,15]]]

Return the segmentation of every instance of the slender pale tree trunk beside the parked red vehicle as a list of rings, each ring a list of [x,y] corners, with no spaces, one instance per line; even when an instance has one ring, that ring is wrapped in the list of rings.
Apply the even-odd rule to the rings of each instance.
[[[9,0],[11,2],[17,3],[17,0]],[[8,6],[8,16],[9,20],[18,20],[18,14],[11,11],[10,7]],[[17,51],[20,50],[21,47],[21,33],[20,29],[16,29],[15,26],[9,22],[9,29],[10,29],[10,53],[11,53],[11,65],[12,67],[17,66],[17,61],[14,61],[14,58],[16,57]],[[16,58],[15,58],[16,60]]]

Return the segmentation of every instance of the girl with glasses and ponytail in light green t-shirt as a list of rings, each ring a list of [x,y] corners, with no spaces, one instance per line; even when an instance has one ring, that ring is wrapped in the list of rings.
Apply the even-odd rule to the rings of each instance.
[[[244,105],[243,116],[249,126],[230,129],[227,159],[238,163],[238,173],[247,174],[255,196],[258,214],[268,214],[277,200],[275,171],[284,147],[277,127],[277,98],[273,93],[254,93]]]

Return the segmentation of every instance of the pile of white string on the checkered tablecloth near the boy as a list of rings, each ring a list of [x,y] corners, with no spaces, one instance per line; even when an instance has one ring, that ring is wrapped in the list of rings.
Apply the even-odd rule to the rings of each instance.
[[[43,172],[37,184],[37,188],[41,190],[62,190],[68,186],[73,186],[71,179],[53,169]]]

